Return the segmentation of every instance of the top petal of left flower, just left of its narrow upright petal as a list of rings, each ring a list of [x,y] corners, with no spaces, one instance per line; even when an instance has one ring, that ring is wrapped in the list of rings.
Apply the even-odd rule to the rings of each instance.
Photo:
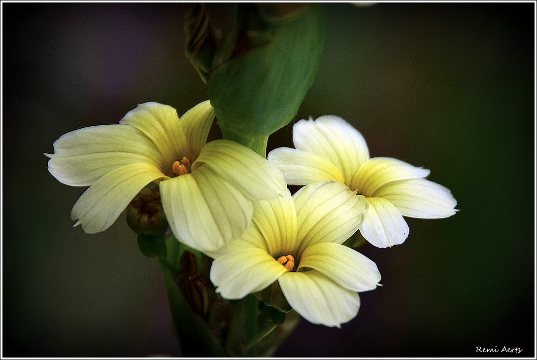
[[[183,156],[192,159],[190,146],[179,125],[177,111],[173,107],[154,102],[143,103],[130,110],[119,120],[120,124],[133,126],[155,143],[165,164]]]

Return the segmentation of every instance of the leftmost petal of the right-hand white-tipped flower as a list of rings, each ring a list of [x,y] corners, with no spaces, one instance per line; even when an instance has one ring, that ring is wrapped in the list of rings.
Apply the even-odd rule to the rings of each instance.
[[[313,153],[282,147],[272,150],[268,158],[280,169],[287,184],[306,185],[325,180],[345,182],[330,161]]]

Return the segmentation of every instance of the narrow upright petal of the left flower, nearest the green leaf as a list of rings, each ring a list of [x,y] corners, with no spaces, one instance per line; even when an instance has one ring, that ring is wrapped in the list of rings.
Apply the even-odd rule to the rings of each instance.
[[[209,100],[192,107],[179,118],[179,124],[183,128],[194,158],[200,154],[201,147],[207,142],[213,120],[214,109]]]

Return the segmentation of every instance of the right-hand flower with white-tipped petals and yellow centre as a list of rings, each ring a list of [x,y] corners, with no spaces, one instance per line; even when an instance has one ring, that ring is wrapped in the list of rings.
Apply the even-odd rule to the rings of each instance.
[[[369,208],[360,227],[374,246],[384,248],[407,239],[412,218],[446,218],[456,200],[442,185],[424,179],[429,170],[390,157],[369,159],[363,136],[336,116],[300,120],[293,126],[296,149],[269,153],[288,184],[335,180],[367,198]]]

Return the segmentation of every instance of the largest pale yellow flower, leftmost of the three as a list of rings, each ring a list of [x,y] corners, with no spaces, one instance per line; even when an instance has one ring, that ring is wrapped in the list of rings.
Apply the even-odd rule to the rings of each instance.
[[[209,101],[180,119],[173,107],[144,103],[115,125],[78,129],[54,142],[48,170],[60,182],[90,186],[71,218],[86,233],[104,231],[129,201],[158,183],[173,234],[189,246],[214,251],[249,226],[251,199],[286,189],[278,169],[228,140],[207,143],[214,110]]]

